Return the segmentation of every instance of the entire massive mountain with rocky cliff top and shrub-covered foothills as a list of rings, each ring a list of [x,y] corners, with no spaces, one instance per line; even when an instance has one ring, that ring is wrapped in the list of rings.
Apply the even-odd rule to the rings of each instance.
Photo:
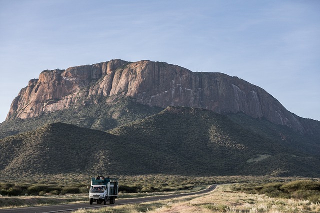
[[[163,62],[45,70],[0,123],[0,174],[319,177],[320,122],[262,88]]]

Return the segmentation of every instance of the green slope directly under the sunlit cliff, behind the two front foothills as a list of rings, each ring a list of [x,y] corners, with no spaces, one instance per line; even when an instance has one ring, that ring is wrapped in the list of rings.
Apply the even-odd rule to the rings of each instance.
[[[65,110],[44,113],[34,118],[6,120],[0,123],[0,138],[56,122],[105,131],[153,115],[161,110],[163,108],[143,105],[128,97],[101,97],[95,104],[79,104]]]

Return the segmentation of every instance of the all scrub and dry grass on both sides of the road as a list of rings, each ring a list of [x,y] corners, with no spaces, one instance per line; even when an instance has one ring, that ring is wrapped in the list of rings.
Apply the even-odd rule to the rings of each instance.
[[[320,211],[320,180],[318,179],[175,175],[118,176],[117,178],[120,182],[118,199],[194,192],[205,189],[211,184],[229,185],[221,185],[216,191],[205,196],[81,211],[85,213]],[[19,182],[23,184],[16,184],[14,179],[0,179],[0,208],[88,202],[87,186],[90,183],[86,176],[72,174],[52,176],[45,180],[29,179]],[[287,210],[283,211],[285,208]]]

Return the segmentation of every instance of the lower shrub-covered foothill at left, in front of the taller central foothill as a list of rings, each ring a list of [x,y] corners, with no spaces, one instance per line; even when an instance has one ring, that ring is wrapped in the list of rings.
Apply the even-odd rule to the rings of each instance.
[[[147,161],[144,156],[139,159],[141,150],[151,152],[102,131],[52,123],[1,139],[0,173],[15,177],[66,173],[139,174],[139,163]]]

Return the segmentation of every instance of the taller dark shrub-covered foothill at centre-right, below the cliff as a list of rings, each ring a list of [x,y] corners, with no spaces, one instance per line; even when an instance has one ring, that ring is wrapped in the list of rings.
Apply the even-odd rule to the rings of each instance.
[[[270,125],[270,123],[268,123]],[[264,128],[263,125],[260,128]],[[205,175],[295,175],[318,176],[318,155],[290,147],[273,135],[244,129],[226,116],[200,108],[168,107],[142,121],[110,131],[155,151],[177,156],[195,167],[178,162],[150,160],[158,172]],[[154,153],[153,153],[154,154]],[[150,155],[152,159],[153,155]]]

